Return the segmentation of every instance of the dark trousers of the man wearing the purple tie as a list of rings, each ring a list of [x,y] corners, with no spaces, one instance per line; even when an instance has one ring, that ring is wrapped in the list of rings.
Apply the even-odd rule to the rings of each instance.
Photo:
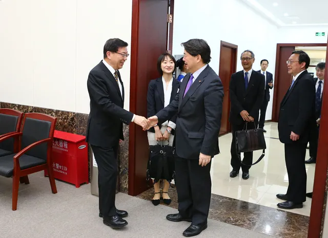
[[[194,225],[207,224],[211,202],[211,162],[201,167],[199,160],[176,158],[175,185],[178,210],[183,218],[192,218]]]

